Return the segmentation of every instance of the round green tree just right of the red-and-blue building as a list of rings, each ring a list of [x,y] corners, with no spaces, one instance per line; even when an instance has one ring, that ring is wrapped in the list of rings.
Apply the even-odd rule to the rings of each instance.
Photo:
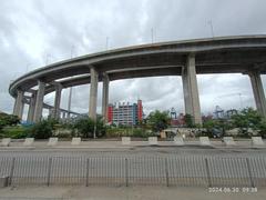
[[[152,127],[152,130],[155,132],[161,132],[170,126],[170,117],[166,111],[154,111],[151,112],[147,117],[147,123]]]

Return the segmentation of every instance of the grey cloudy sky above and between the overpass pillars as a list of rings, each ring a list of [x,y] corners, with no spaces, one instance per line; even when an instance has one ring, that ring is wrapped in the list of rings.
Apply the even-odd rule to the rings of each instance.
[[[265,0],[0,0],[0,110],[12,112],[11,80],[73,56],[215,36],[266,34]],[[254,107],[247,76],[197,76],[202,112]],[[266,79],[263,76],[265,86]],[[99,107],[101,110],[101,89]],[[68,92],[63,91],[62,108]],[[241,96],[239,96],[241,93]],[[45,97],[52,103],[54,94]],[[111,82],[110,102],[143,100],[144,111],[184,111],[180,77]],[[88,112],[89,86],[73,89],[72,110]],[[25,111],[27,112],[27,108]]]

